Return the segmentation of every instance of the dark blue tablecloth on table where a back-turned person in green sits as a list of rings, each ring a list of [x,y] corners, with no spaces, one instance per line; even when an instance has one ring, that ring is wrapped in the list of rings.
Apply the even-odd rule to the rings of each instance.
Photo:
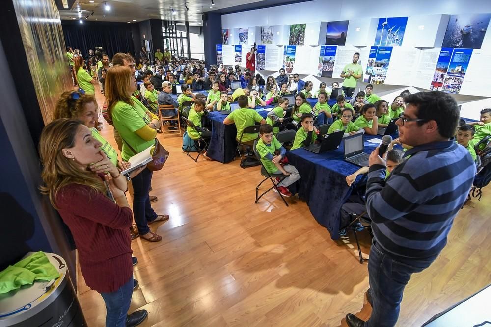
[[[269,111],[264,110],[264,108],[273,108],[273,106],[256,107],[256,111],[263,118],[266,118]],[[225,117],[227,115],[223,115],[219,111],[210,112],[208,115],[212,124],[212,137],[206,156],[221,163],[229,163],[234,160],[235,149],[237,149],[237,141],[235,140],[237,128],[235,124],[223,124]]]

